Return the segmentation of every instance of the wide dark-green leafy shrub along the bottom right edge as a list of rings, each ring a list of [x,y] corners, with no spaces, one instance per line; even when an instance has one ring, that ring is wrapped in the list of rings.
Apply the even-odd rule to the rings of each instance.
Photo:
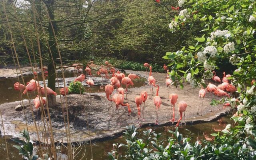
[[[191,138],[184,138],[178,128],[169,131],[172,137],[162,137],[152,129],[143,131],[142,138],[138,138],[137,128],[134,125],[126,126],[124,132],[126,144],[113,144],[115,147],[108,155],[112,160],[248,160],[254,159],[255,151],[248,148],[246,140],[240,140],[236,134],[240,129],[229,128],[215,136],[214,142],[192,142]],[[248,139],[255,147],[255,139]],[[166,143],[167,142],[167,143]],[[120,154],[119,148],[125,153]]]

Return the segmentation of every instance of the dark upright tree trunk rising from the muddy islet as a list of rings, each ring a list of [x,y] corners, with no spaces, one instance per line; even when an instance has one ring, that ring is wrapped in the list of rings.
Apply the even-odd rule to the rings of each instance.
[[[49,14],[49,24],[48,24],[48,32],[49,32],[49,63],[48,63],[48,87],[52,90],[56,90],[55,88],[55,79],[56,79],[56,73],[55,73],[55,63],[56,58],[58,57],[58,52],[56,48],[56,41],[54,37],[57,34],[57,27],[56,22],[54,20],[54,8],[52,7],[54,5],[54,0],[45,0],[44,3],[46,4],[46,7],[48,9]],[[51,55],[52,54],[52,55]],[[48,96],[48,106],[56,106],[56,97],[54,95]]]

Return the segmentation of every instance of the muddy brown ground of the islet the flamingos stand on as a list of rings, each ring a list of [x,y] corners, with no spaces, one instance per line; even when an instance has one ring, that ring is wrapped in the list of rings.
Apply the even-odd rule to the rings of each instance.
[[[126,70],[126,73],[135,73],[143,77],[148,77],[148,72],[136,72],[131,70]],[[171,108],[170,101],[168,100],[168,88],[165,85],[166,74],[153,72],[152,76],[156,79],[156,84],[160,86],[159,96],[162,99],[162,104],[160,106],[158,115],[158,125],[175,125],[180,114],[178,112],[178,102],[184,100],[187,102],[188,107],[186,108],[186,124],[195,124],[200,122],[210,122],[216,120],[220,116],[224,116],[230,112],[230,108],[218,110],[217,106],[210,106],[210,94],[206,94],[204,98],[203,112],[202,116],[197,114],[199,98],[198,91],[199,88],[192,88],[189,84],[184,85],[184,89],[176,88],[175,86],[170,87],[170,94],[178,94],[178,102],[175,107],[175,122],[170,123]],[[107,100],[105,93],[93,93],[84,95],[70,94],[67,96],[67,108],[60,104],[60,96],[57,96],[58,106],[49,109],[52,130],[54,134],[55,142],[67,142],[67,134],[65,131],[64,117],[69,116],[70,124],[70,138],[72,142],[82,142],[89,140],[89,130],[92,140],[105,140],[122,134],[125,130],[126,125],[138,123],[137,108],[134,102],[134,98],[140,95],[140,92],[147,91],[150,94],[150,86],[142,86],[140,88],[133,88],[132,92],[128,94],[125,103],[129,103],[132,109],[132,114],[128,116],[127,107],[120,106],[120,110],[115,110],[115,104],[109,110],[110,102]],[[115,93],[115,91],[114,91]],[[140,121],[143,126],[152,126],[155,124],[155,106],[153,103],[153,98],[156,94],[156,88],[154,88],[154,95],[148,97],[146,100],[144,120]],[[214,97],[216,98],[216,97]],[[62,97],[62,102],[64,98]],[[30,136],[33,140],[38,140],[36,134],[36,127],[34,125],[34,120],[37,124],[37,128],[40,131],[40,140],[42,141],[42,124],[48,123],[48,114],[46,110],[46,117],[41,120],[41,111],[34,110],[34,118],[29,106],[28,100],[24,102],[26,106],[25,110],[16,111],[14,108],[19,104],[19,102],[11,102],[0,105],[2,110],[3,123],[6,135],[18,136],[19,132],[26,127],[26,119],[28,123],[28,130],[30,131]],[[64,112],[63,112],[64,111]],[[211,112],[210,112],[211,111]],[[109,115],[110,112],[110,115]],[[26,115],[26,118],[24,116]],[[88,117],[86,120],[86,116]],[[33,120],[34,119],[34,120]],[[184,122],[184,120],[182,121]],[[67,124],[67,123],[66,123]],[[1,124],[2,125],[2,124]],[[50,125],[50,124],[49,124]],[[184,125],[184,124],[180,124]],[[66,125],[68,126],[68,125]],[[89,126],[89,128],[87,127]],[[50,127],[50,126],[49,126]],[[89,130],[88,130],[89,129]],[[1,134],[3,135],[3,130],[1,127]],[[46,133],[48,135],[49,133]],[[47,137],[49,138],[49,137]],[[46,138],[46,139],[47,139]]]

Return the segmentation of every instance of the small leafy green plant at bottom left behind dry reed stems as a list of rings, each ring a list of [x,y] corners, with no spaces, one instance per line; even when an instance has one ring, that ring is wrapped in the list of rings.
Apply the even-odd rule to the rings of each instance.
[[[22,137],[25,138],[24,140],[20,140],[18,138],[14,138],[13,141],[20,144],[20,146],[13,146],[19,150],[19,154],[22,157],[27,158],[28,160],[37,160],[38,155],[33,155],[33,144],[30,141],[30,136],[28,134],[28,130],[23,130],[20,132]]]

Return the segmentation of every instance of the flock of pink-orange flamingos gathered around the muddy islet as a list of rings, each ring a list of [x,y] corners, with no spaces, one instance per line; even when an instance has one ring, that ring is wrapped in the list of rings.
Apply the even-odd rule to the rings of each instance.
[[[93,61],[90,61],[89,62],[90,64],[93,64]],[[105,65],[106,66],[111,66],[111,64],[109,64],[108,61],[105,62]],[[74,66],[75,69],[80,69],[80,66],[78,64],[73,64],[72,66]],[[153,88],[154,87],[157,87],[156,88],[156,96],[154,96],[154,99],[153,99],[153,102],[154,102],[154,105],[156,106],[156,124],[158,124],[158,110],[160,108],[160,105],[162,103],[161,101],[161,98],[160,96],[158,96],[158,91],[159,91],[159,85],[156,84],[156,79],[151,75],[152,74],[152,66],[150,66],[148,63],[145,63],[144,64],[144,67],[146,68],[150,68],[150,73],[149,73],[149,76],[148,76],[148,84],[150,85],[150,92],[151,94],[153,95]],[[167,76],[166,76],[166,86],[170,86],[172,85],[172,80],[170,78],[168,78],[168,68],[166,65],[164,65],[164,70],[167,72]],[[46,69],[44,69],[46,70]],[[128,115],[131,114],[131,109],[130,109],[130,104],[129,103],[126,103],[124,104],[124,99],[127,98],[127,94],[128,94],[128,86],[133,86],[133,81],[134,79],[136,78],[140,78],[139,76],[137,76],[136,74],[129,74],[127,77],[125,76],[125,74],[123,73],[120,73],[120,71],[117,71],[115,70],[115,68],[113,67],[109,67],[109,69],[106,69],[104,68],[104,65],[101,65],[100,66],[100,69],[98,70],[97,74],[98,75],[105,75],[106,78],[108,78],[108,73],[112,73],[112,77],[110,78],[110,84],[107,84],[105,86],[105,93],[106,93],[106,97],[107,99],[111,102],[114,102],[116,104],[116,110],[119,109],[119,106],[127,106],[128,108]],[[86,66],[86,69],[85,69],[85,72],[86,74],[88,75],[92,75],[91,73],[91,68],[87,65]],[[220,80],[220,77],[216,76],[216,72],[214,72],[214,76],[212,77],[212,80],[214,80],[216,83],[221,83],[221,80]],[[48,72],[47,71],[44,71],[43,75],[44,76],[48,76],[47,75]],[[37,73],[34,72],[34,76],[36,77],[37,76]],[[199,108],[201,106],[201,115],[202,115],[202,105],[203,105],[203,101],[204,101],[204,97],[206,95],[206,92],[210,92],[210,94],[214,94],[216,96],[219,96],[219,97],[222,97],[222,96],[229,96],[229,94],[227,92],[230,92],[231,94],[233,92],[236,92],[237,89],[235,86],[233,86],[232,84],[229,84],[228,82],[228,77],[230,77],[231,75],[228,74],[225,76],[225,72],[224,72],[224,76],[222,78],[222,84],[216,86],[214,84],[211,84],[209,83],[208,86],[206,88],[201,88],[199,90],[199,97],[200,97],[200,104],[199,104],[199,107],[198,107],[198,111],[199,111]],[[84,74],[80,74],[78,77],[75,78],[74,82],[76,81],[80,81],[80,82],[83,82],[86,78],[86,75]],[[92,79],[88,79],[86,81],[86,84],[88,84],[88,86],[93,86],[94,85],[94,81]],[[121,87],[121,84],[125,85],[126,88],[122,88]],[[116,93],[113,94],[114,92],[114,88],[116,88]],[[24,86],[23,84],[20,84],[19,82],[15,83],[14,84],[14,89],[15,90],[19,90],[20,93],[23,91],[22,94],[26,94],[27,92],[34,92],[34,91],[38,91],[38,95],[36,96],[36,98],[34,99],[34,106],[35,108],[39,108],[41,105],[44,105],[46,104],[46,100],[44,98],[42,98],[42,96],[40,95],[44,95],[45,93],[47,95],[50,95],[50,94],[54,94],[55,96],[57,95],[56,92],[54,92],[51,88],[44,88],[44,87],[41,87],[38,83],[38,81],[32,79],[30,80],[30,82],[28,82],[26,84],[26,86]],[[124,98],[124,93],[126,92],[126,98]],[[63,95],[63,96],[66,96],[68,94],[68,87],[65,87],[65,88],[61,88],[60,89],[60,94]],[[113,94],[113,95],[112,95]],[[112,95],[112,98],[111,98],[111,95]],[[144,111],[144,106],[145,106],[145,102],[148,98],[148,93],[146,91],[142,91],[140,93],[140,96],[136,96],[135,97],[135,103],[137,105],[137,110],[138,110],[138,120],[141,119],[141,110],[142,110],[142,115],[143,115],[143,111]],[[202,98],[202,103],[201,103],[201,98]],[[171,103],[171,107],[173,106],[173,114],[172,114],[172,118],[170,119],[170,122],[174,123],[175,121],[175,114],[174,114],[174,111],[175,111],[175,104],[177,102],[177,99],[178,99],[178,95],[177,94],[170,94],[169,95],[169,99],[170,99],[170,103]],[[142,106],[142,103],[144,103],[144,106],[143,108],[141,107]],[[230,104],[225,104],[226,106],[230,106]],[[184,112],[184,116],[185,116],[185,111],[186,111],[186,107],[187,107],[187,103],[185,101],[181,101],[178,103],[178,111],[180,112],[180,118],[178,119],[178,122],[176,124],[176,126],[179,126],[179,123],[180,123],[180,120],[182,120],[182,114]],[[110,110],[110,105],[109,105],[109,110]],[[172,110],[172,108],[171,108]],[[144,116],[143,116],[144,117]],[[142,118],[143,120],[144,118]]]

